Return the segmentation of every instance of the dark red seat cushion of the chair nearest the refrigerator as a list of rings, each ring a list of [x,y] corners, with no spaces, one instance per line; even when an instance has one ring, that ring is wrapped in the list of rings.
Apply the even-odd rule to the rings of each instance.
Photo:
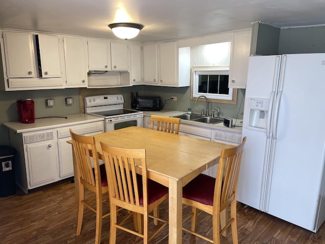
[[[183,187],[183,198],[213,206],[215,178],[199,174]]]

